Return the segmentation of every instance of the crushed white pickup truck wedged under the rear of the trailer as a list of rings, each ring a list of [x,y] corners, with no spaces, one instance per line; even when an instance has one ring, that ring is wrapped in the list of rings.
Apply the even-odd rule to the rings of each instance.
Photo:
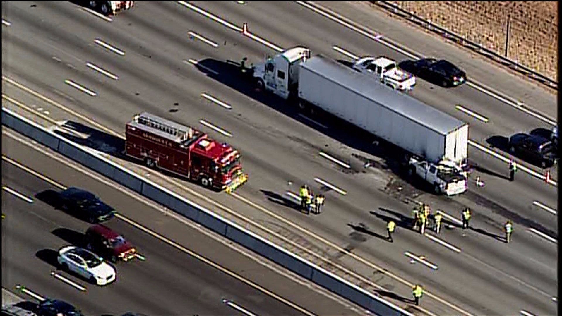
[[[433,184],[436,194],[447,196],[464,193],[468,189],[466,171],[449,161],[441,161],[439,164],[410,157],[408,174],[418,175],[429,184]]]

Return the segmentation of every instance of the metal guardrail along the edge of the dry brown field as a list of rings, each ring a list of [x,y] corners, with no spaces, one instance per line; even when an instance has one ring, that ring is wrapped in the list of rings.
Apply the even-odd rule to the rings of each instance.
[[[415,15],[412,12],[408,12],[404,9],[401,9],[400,7],[398,7],[396,4],[389,2],[389,1],[371,1],[371,3],[373,4],[377,4],[379,7],[384,8],[387,11],[391,11],[392,13],[395,13],[396,15],[400,15],[402,17],[405,17],[406,19],[410,19],[410,21],[430,30],[433,31],[434,33],[437,33],[439,35],[441,35],[442,37],[445,37],[447,39],[451,39],[454,40],[456,43],[461,44],[463,46],[472,48],[474,51],[480,53],[481,55],[484,55],[488,58],[491,58],[492,60],[495,60],[497,62],[500,62],[501,64],[507,65],[509,66],[511,69],[518,71],[519,73],[522,73],[524,75],[527,75],[529,78],[536,80],[537,82],[540,82],[542,84],[547,85],[550,88],[556,89],[558,90],[558,82],[548,78],[547,76],[537,73],[536,71],[530,69],[529,67],[523,66],[521,64],[519,64],[519,62],[517,61],[513,61],[510,60],[509,58],[505,58],[501,55],[498,55],[498,53],[491,51],[490,49],[487,49],[486,47],[482,47],[482,44],[477,44],[474,42],[470,42],[470,40],[465,39],[464,37],[461,37],[460,35],[456,34],[456,33],[452,33],[449,30],[446,30],[444,28],[442,28],[439,25],[433,24],[432,22],[423,19],[422,17],[419,17],[417,15]]]

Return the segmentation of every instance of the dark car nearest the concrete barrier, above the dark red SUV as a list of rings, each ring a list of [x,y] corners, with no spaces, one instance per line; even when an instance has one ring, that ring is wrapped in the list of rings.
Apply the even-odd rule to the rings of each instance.
[[[105,204],[99,198],[83,189],[67,188],[60,193],[61,208],[75,214],[77,217],[97,224],[114,217],[113,207]]]

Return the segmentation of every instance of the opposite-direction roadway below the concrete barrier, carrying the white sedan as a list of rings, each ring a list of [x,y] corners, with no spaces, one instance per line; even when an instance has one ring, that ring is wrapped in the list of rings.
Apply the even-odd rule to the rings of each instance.
[[[112,219],[107,225],[124,234],[143,257],[116,264],[117,281],[106,287],[91,285],[58,270],[61,276],[85,287],[85,291],[80,291],[50,276],[49,273],[56,270],[56,251],[69,243],[79,245],[89,224],[48,204],[52,195],[46,192],[59,191],[58,186],[3,159],[2,212],[6,215],[2,220],[3,287],[13,291],[16,285],[24,285],[43,297],[68,301],[87,315],[121,315],[128,311],[147,315],[355,314],[308,286],[248,259],[226,246],[224,241],[201,234],[114,187],[13,139],[2,137],[2,142],[3,155],[28,157],[26,160],[35,161],[34,165],[51,168],[54,172],[49,172],[49,177],[56,182],[89,189],[116,207],[126,220]],[[35,167],[24,166],[31,170]],[[129,223],[130,220],[134,220],[134,224]],[[136,227],[137,220],[143,223],[140,225],[147,224],[148,228],[144,229],[162,232],[162,238],[169,238],[187,247],[187,251],[225,268],[211,267],[170,242],[151,236]],[[253,279],[267,292],[247,284],[252,281],[234,271]],[[227,273],[233,273],[236,278]],[[279,301],[271,293],[288,303]],[[306,307],[296,305],[291,299]]]

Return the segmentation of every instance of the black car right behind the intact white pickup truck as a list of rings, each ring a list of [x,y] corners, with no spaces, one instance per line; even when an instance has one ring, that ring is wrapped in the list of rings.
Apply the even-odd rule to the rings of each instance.
[[[422,58],[414,62],[412,68],[416,76],[443,87],[456,87],[466,82],[466,73],[446,60]]]

